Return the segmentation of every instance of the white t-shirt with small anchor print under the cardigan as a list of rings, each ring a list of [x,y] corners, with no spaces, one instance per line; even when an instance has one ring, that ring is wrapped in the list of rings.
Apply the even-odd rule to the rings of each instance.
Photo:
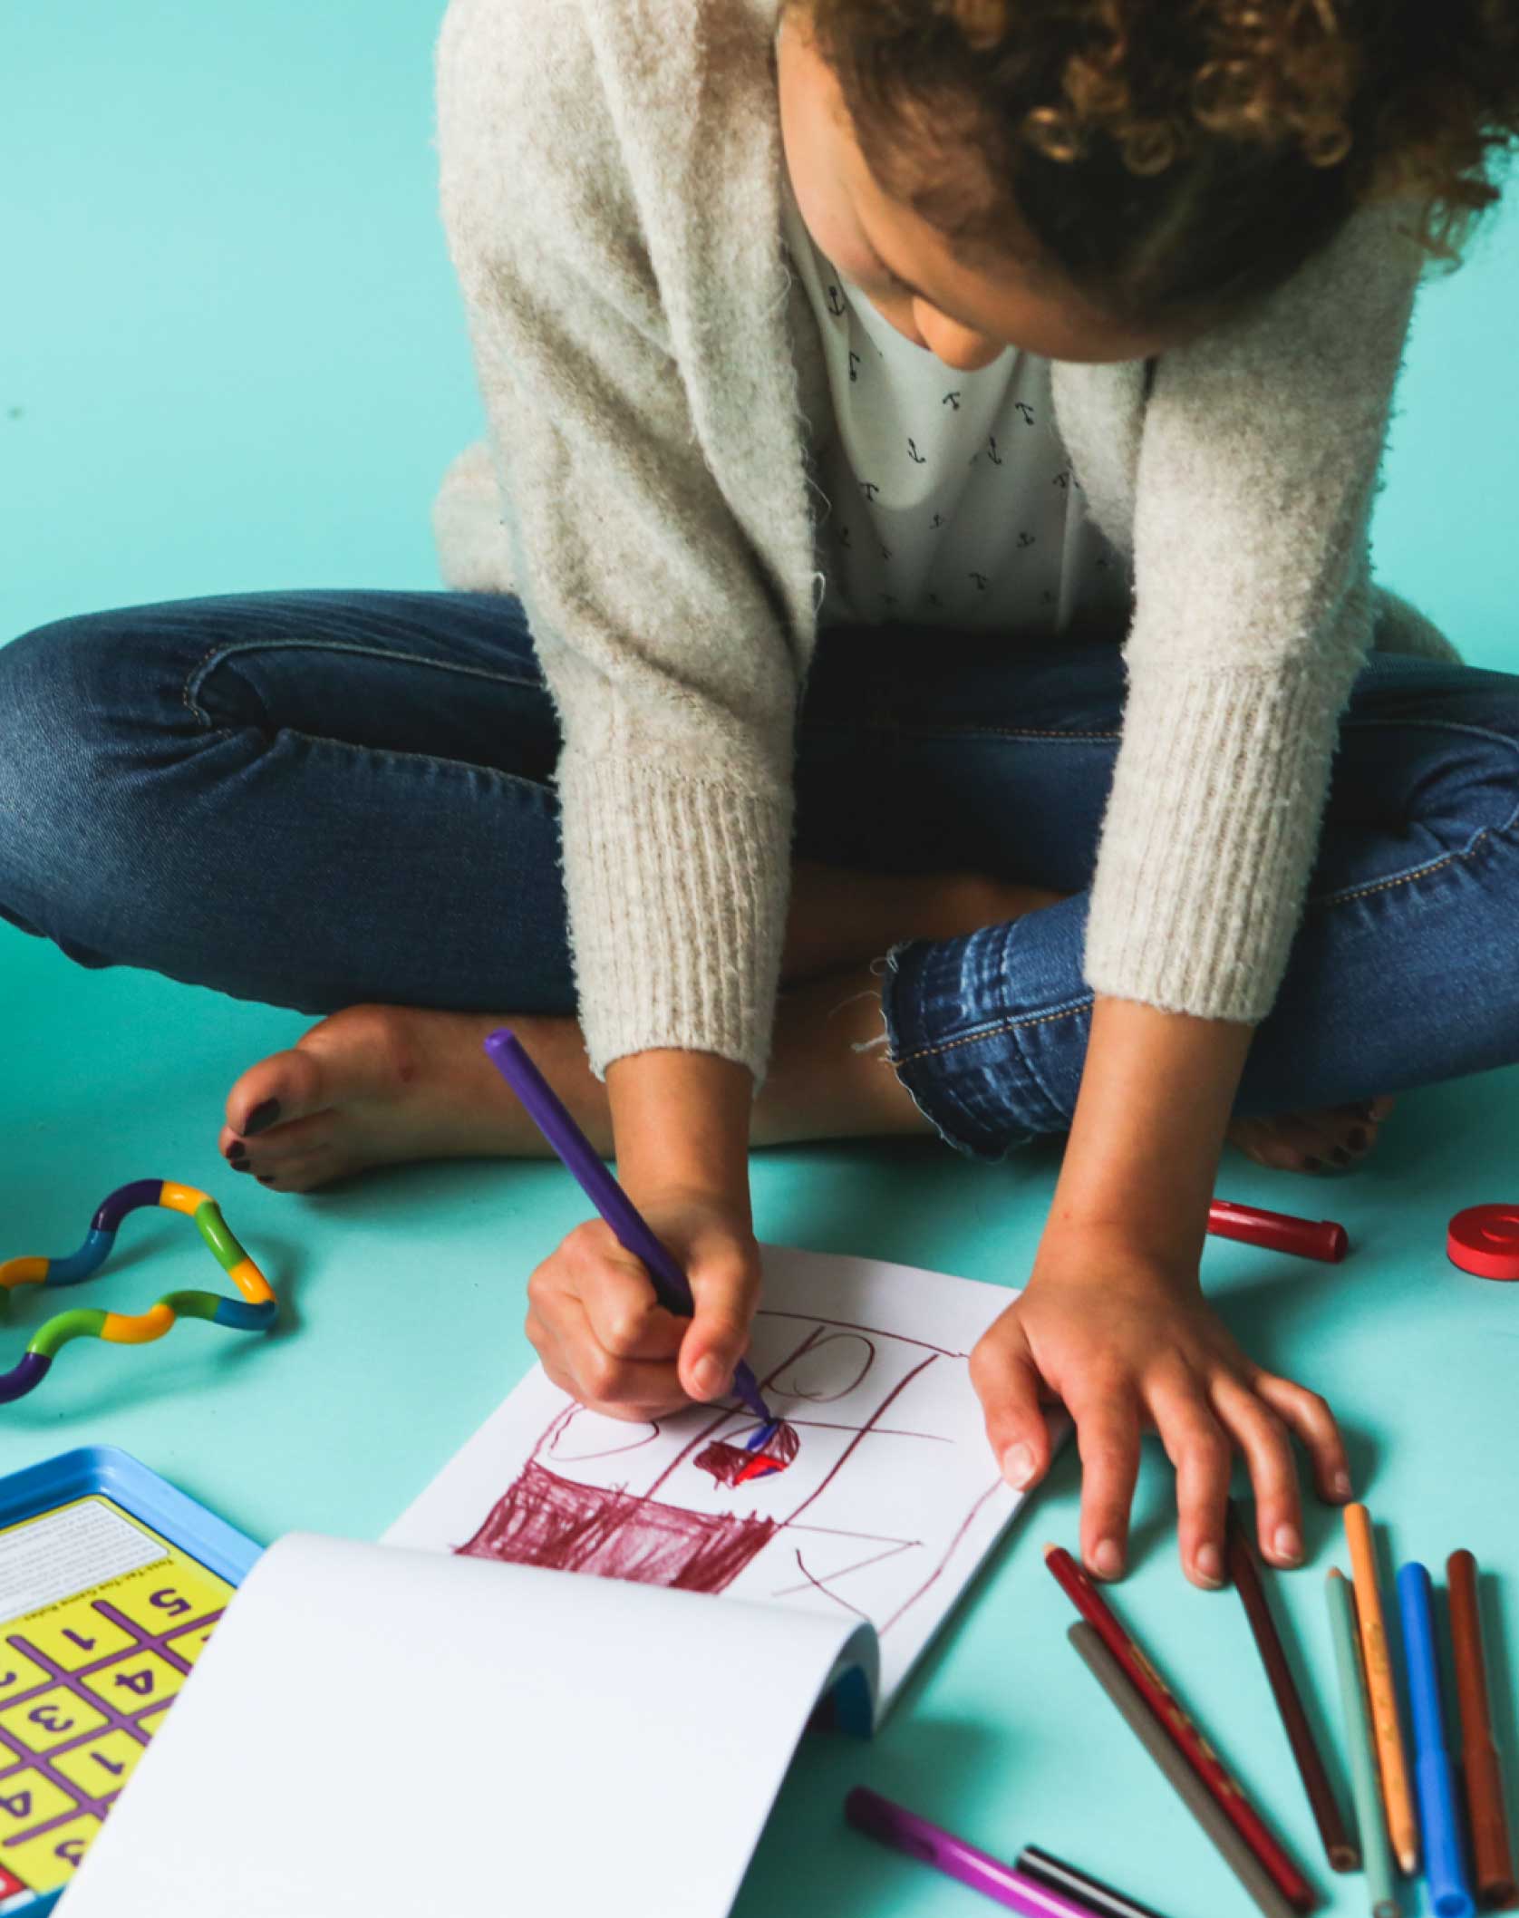
[[[913,345],[817,249],[781,169],[783,240],[823,336],[832,422],[813,422],[819,627],[1064,631],[1128,606],[1128,566],[1087,518],[1049,361],[1005,347],[957,372]],[[832,433],[829,433],[829,424]]]

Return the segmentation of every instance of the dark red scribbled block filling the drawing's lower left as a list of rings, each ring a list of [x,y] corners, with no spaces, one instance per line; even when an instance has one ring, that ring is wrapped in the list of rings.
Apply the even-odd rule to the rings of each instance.
[[[775,1531],[775,1519],[689,1511],[618,1486],[573,1485],[529,1460],[456,1557],[721,1592]]]

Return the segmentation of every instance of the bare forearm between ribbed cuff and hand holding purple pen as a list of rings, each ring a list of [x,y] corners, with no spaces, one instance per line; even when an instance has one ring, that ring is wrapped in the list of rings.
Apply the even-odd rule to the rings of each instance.
[[[713,1199],[750,1218],[754,1080],[717,1053],[660,1047],[606,1068],[618,1176],[637,1199]]]

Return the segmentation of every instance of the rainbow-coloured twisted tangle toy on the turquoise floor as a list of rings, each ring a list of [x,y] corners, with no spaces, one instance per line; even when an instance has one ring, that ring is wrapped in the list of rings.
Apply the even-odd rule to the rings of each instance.
[[[138,1316],[100,1312],[81,1306],[50,1318],[33,1337],[17,1366],[0,1373],[0,1404],[25,1398],[48,1375],[58,1350],[69,1339],[105,1339],[109,1345],[152,1345],[173,1329],[175,1320],[199,1318],[232,1331],[269,1331],[280,1310],[274,1289],[247,1252],[238,1245],[221,1206],[194,1185],[175,1185],[173,1180],[134,1180],[121,1185],[90,1220],[90,1231],[77,1252],[67,1258],[8,1258],[0,1264],[0,1289],[13,1285],[79,1285],[100,1272],[115,1245],[117,1226],[129,1212],[144,1205],[161,1205],[169,1212],[186,1212],[211,1247],[217,1264],[238,1287],[242,1298],[224,1293],[165,1293]]]

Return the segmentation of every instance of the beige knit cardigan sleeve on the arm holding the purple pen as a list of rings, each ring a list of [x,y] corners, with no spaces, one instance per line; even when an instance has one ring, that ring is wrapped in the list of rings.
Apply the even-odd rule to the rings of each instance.
[[[735,1059],[758,1086],[790,880],[798,646],[692,426],[579,10],[453,0],[435,79],[443,226],[510,577],[562,729],[591,1066],[681,1047]]]

